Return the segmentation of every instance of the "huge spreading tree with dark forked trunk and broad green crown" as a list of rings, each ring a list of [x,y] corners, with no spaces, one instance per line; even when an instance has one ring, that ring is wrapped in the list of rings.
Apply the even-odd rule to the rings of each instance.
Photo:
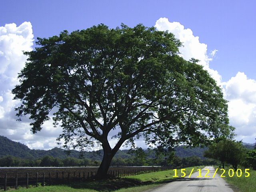
[[[30,116],[33,133],[52,115],[65,145],[72,138],[81,148],[98,141],[104,150],[99,177],[107,176],[124,142],[143,137],[154,146],[196,146],[230,133],[221,88],[196,60],[180,57],[182,44],[172,33],[100,24],[36,44],[25,52],[12,90],[21,100],[17,115]]]

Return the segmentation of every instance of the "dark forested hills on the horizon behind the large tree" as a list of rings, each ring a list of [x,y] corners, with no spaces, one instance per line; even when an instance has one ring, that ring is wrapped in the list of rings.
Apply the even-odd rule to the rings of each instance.
[[[66,158],[67,156],[79,158],[81,155],[80,152],[76,150],[71,150],[70,154],[67,155],[65,150],[61,148],[53,148],[51,150],[31,150],[26,145],[19,142],[14,142],[4,136],[0,136],[0,146],[0,157],[11,155],[26,159],[37,159],[46,155],[50,155],[55,158]],[[180,146],[175,148],[175,153],[176,156],[179,156],[181,158],[189,156],[198,156],[200,158],[203,158],[203,154],[206,149],[207,148],[186,148],[184,146]],[[119,150],[115,158],[130,158],[132,154],[130,154],[128,151],[129,150]],[[151,150],[146,150],[146,153],[151,158],[154,158],[154,152],[152,152]],[[91,160],[101,160],[103,157],[103,151],[99,150],[96,152],[84,152],[83,157],[89,158]]]

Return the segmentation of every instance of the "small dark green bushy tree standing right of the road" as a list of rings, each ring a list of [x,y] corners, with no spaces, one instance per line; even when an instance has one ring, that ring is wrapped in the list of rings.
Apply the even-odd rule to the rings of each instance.
[[[242,142],[233,140],[220,140],[209,146],[205,151],[204,156],[219,160],[224,168],[225,163],[231,164],[234,169],[237,169],[238,164],[242,163],[246,154],[246,148]]]

